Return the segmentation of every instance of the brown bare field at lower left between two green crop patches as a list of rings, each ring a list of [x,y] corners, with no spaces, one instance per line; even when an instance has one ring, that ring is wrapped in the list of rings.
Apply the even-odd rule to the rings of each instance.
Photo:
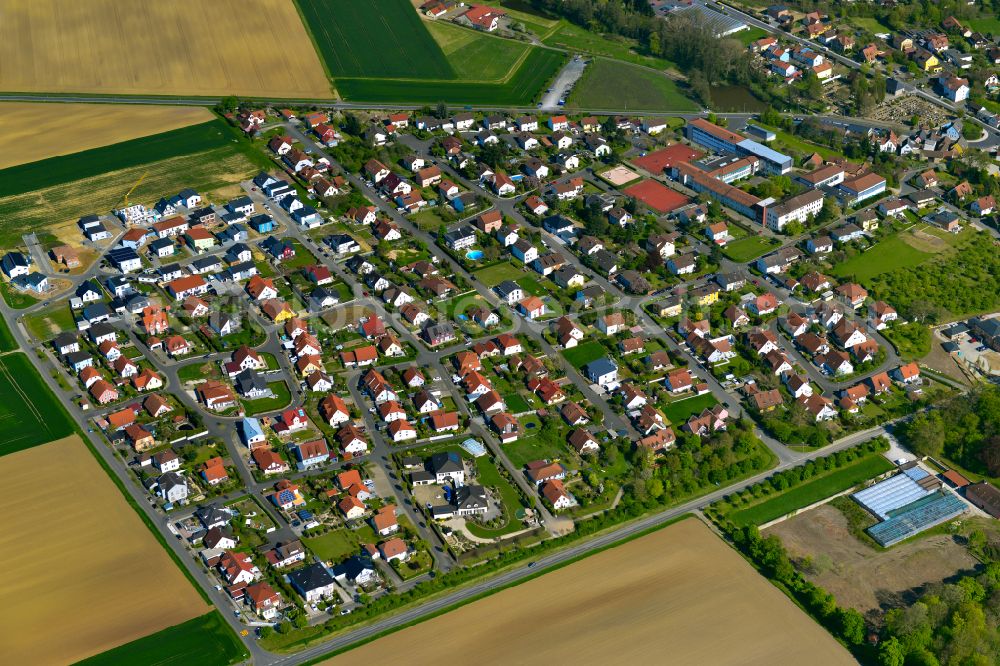
[[[8,661],[75,663],[209,610],[79,436],[4,457],[0,478]]]

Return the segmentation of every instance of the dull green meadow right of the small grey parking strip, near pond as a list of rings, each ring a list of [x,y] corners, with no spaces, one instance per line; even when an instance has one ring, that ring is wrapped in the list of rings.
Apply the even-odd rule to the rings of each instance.
[[[628,63],[597,58],[570,93],[570,108],[636,111],[697,111],[673,79]]]

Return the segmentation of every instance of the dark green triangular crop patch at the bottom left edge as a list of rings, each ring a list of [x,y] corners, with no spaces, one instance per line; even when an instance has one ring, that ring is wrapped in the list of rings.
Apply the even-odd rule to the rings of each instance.
[[[79,666],[222,666],[249,656],[219,611],[212,611],[77,663]]]

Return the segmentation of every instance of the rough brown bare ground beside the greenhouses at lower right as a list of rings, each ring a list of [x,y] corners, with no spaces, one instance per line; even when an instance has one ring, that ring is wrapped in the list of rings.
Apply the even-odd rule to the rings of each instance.
[[[995,530],[995,521],[985,518],[963,522],[965,533],[972,526],[987,533]],[[909,599],[913,590],[969,573],[979,565],[959,540],[939,529],[876,550],[854,536],[845,515],[830,504],[765,530],[765,535],[772,534],[781,539],[793,559],[810,558],[806,578],[834,595],[839,605],[861,613],[896,605]]]

